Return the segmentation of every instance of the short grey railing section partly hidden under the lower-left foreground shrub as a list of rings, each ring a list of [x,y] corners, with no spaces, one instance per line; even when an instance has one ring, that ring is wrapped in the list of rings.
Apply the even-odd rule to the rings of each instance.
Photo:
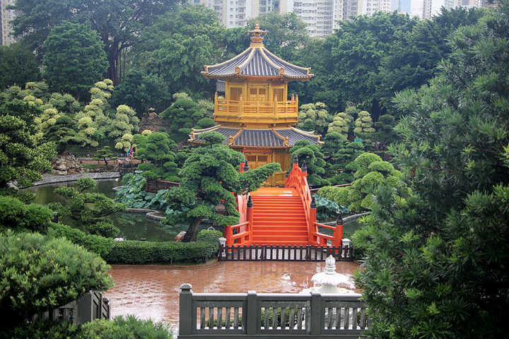
[[[110,319],[110,302],[100,292],[88,292],[78,300],[62,307],[36,314],[32,320],[49,319],[52,321],[70,321],[88,323],[95,319]]]

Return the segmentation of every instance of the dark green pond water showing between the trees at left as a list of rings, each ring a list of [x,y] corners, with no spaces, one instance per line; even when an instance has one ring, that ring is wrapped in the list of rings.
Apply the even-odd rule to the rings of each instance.
[[[109,198],[115,198],[115,191],[113,191],[113,187],[120,185],[119,180],[107,179],[96,180],[96,182],[98,185],[95,189],[91,189],[90,191],[103,193]],[[62,186],[76,186],[76,182],[62,182],[58,184],[33,186],[26,189],[26,191],[30,191],[35,194],[34,203],[40,203],[41,205],[52,202],[66,203],[66,199],[54,193],[55,189]],[[130,240],[145,238],[150,242],[171,242],[175,240],[175,236],[179,232],[187,230],[187,225],[163,227],[163,225],[161,225],[158,221],[147,219],[144,214],[127,212],[115,213],[114,215],[109,215],[107,218],[112,221],[113,225],[119,227],[121,237]],[[66,225],[80,228],[79,223],[71,218],[62,218],[62,222]]]

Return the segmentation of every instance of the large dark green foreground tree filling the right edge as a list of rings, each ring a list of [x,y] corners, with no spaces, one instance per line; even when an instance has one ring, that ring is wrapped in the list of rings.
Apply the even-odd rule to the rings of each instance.
[[[391,148],[414,194],[380,188],[356,234],[376,338],[509,331],[509,6],[450,35],[450,59],[396,105]]]

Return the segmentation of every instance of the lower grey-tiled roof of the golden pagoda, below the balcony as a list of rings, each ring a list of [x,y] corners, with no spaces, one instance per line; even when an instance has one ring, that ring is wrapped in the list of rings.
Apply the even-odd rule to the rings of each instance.
[[[289,148],[300,140],[322,144],[320,136],[313,134],[313,132],[300,131],[300,129],[294,127],[289,129],[233,129],[220,125],[209,129],[193,129],[189,142],[203,144],[204,140],[199,135],[209,131],[223,134],[223,136],[226,136],[224,143],[236,147]]]

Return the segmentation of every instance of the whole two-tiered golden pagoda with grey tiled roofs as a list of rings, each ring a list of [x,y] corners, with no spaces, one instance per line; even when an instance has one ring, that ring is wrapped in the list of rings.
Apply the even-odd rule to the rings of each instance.
[[[200,133],[216,131],[226,136],[226,143],[244,153],[250,168],[269,162],[279,162],[283,171],[291,166],[290,148],[299,140],[320,143],[320,136],[300,131],[293,126],[298,121],[298,96],[288,100],[288,82],[308,81],[309,68],[290,64],[264,47],[267,31],[254,30],[250,47],[221,64],[205,66],[206,78],[225,81],[225,95],[214,98],[214,121],[209,129],[193,129],[189,142],[199,145]],[[269,186],[283,186],[284,172],[274,174]]]

